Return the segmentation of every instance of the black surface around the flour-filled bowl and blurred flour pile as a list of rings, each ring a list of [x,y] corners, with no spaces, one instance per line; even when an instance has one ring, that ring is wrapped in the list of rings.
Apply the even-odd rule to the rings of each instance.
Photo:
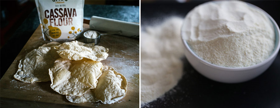
[[[195,6],[207,1],[156,1],[141,3],[141,29],[162,22],[167,16],[184,17]],[[266,11],[280,24],[280,1],[245,1]],[[225,84],[199,74],[185,57],[184,75],[163,98],[150,102],[152,108],[280,108],[280,53],[273,64],[253,80]]]

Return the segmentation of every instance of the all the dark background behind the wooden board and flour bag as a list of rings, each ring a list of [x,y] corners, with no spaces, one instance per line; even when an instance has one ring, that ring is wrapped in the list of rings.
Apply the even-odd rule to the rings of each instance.
[[[0,0],[1,78],[39,26],[34,0]],[[139,23],[138,0],[85,0],[84,19],[91,16]]]

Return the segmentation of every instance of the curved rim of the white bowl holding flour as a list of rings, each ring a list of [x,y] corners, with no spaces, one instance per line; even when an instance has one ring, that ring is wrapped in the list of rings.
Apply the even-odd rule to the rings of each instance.
[[[221,2],[221,1],[210,1],[210,2]],[[205,2],[207,3],[207,2]],[[261,8],[259,8],[258,6],[255,6],[253,4],[250,4],[250,3],[247,3],[245,2],[246,4],[248,4],[249,6],[252,6],[256,9],[259,9],[261,10],[262,12],[264,12],[266,14],[266,16],[271,20],[272,24],[273,24],[273,28],[274,28],[274,32],[275,32],[275,42],[277,42],[277,37],[278,37],[278,43],[274,43],[275,46],[274,46],[274,49],[273,49],[273,52],[270,54],[270,56],[265,59],[264,61],[258,63],[258,64],[254,64],[254,65],[251,65],[251,66],[247,66],[247,67],[241,67],[241,68],[230,68],[230,67],[223,67],[223,66],[219,66],[219,65],[216,65],[216,64],[212,64],[206,60],[203,60],[202,58],[200,58],[199,56],[197,56],[193,50],[191,48],[189,48],[189,45],[187,43],[186,40],[183,39],[183,35],[182,35],[182,28],[183,28],[183,25],[181,27],[181,31],[180,31],[180,34],[181,34],[181,39],[183,40],[183,43],[184,43],[184,46],[185,48],[187,48],[187,50],[189,50],[189,52],[197,59],[200,60],[200,62],[210,66],[210,67],[213,67],[213,68],[216,68],[216,69],[222,69],[222,70],[247,70],[247,69],[253,69],[253,68],[256,68],[256,67],[259,67],[261,65],[264,65],[266,63],[268,63],[268,61],[272,60],[274,56],[276,56],[278,54],[278,51],[279,51],[279,48],[280,48],[280,30],[279,30],[279,27],[277,25],[277,23],[275,22],[275,20],[267,13],[265,12],[264,10],[262,10]],[[192,9],[193,10],[193,9]],[[192,11],[190,10],[190,11]],[[189,12],[190,12],[189,11]],[[188,15],[188,14],[187,14]],[[184,24],[184,23],[183,23]],[[278,33],[278,35],[277,35]]]

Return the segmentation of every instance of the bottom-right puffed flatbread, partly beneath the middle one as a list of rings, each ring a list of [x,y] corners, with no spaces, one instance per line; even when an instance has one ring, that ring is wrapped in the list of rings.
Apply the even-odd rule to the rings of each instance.
[[[95,89],[88,90],[82,96],[66,95],[66,98],[73,103],[101,101],[104,104],[112,104],[124,98],[126,87],[127,81],[122,74],[111,66],[104,66]]]

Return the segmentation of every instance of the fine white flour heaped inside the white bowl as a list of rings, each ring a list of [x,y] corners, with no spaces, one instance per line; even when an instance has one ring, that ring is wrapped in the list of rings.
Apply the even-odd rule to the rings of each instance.
[[[264,12],[242,1],[208,2],[191,10],[182,37],[202,59],[223,67],[247,67],[267,59],[275,34]]]

